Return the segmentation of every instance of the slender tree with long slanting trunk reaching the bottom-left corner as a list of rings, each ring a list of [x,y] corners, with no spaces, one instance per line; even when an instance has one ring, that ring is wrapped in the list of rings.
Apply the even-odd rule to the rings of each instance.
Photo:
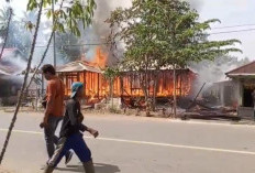
[[[33,24],[27,25],[27,28],[31,30],[34,28],[34,36],[33,36],[33,41],[32,41],[32,45],[31,45],[31,51],[30,51],[30,55],[29,55],[29,61],[27,61],[27,66],[26,66],[25,75],[24,75],[24,82],[22,85],[21,94],[19,96],[15,111],[14,111],[14,115],[13,115],[11,125],[9,127],[4,144],[3,144],[3,148],[1,151],[0,164],[3,160],[4,153],[5,153],[8,143],[9,143],[9,139],[11,137],[11,132],[12,132],[12,129],[13,129],[15,120],[16,120],[16,116],[18,116],[21,102],[23,100],[23,97],[24,97],[24,90],[26,87],[29,73],[31,71],[31,63],[33,60],[33,53],[34,53],[35,43],[36,43],[36,39],[37,39],[37,32],[38,32],[42,10],[43,10],[43,8],[47,9],[47,7],[52,7],[52,2],[53,1],[51,1],[51,0],[41,0],[40,2],[37,2],[36,0],[29,0],[29,3],[27,3],[27,11],[38,10],[37,20],[36,20],[35,28]],[[54,1],[54,3],[56,3],[56,2],[57,2],[57,0]],[[63,2],[64,2],[64,0],[62,1],[62,4],[63,4]],[[52,10],[48,10],[47,17],[48,18],[51,15],[55,17],[53,31],[58,30],[60,32],[65,32],[65,26],[66,26],[74,34],[80,35],[77,20],[82,21],[84,26],[86,26],[88,23],[90,23],[91,18],[93,15],[93,9],[96,8],[96,3],[93,0],[87,0],[87,6],[81,6],[81,2],[79,0],[71,1],[70,3],[71,4],[68,6],[66,10],[59,9],[58,11],[54,11],[54,12]],[[52,39],[52,36],[49,37],[49,41],[51,41],[51,39]],[[44,56],[42,57],[42,60],[43,58],[44,58]],[[36,71],[35,71],[35,73],[36,73]]]

